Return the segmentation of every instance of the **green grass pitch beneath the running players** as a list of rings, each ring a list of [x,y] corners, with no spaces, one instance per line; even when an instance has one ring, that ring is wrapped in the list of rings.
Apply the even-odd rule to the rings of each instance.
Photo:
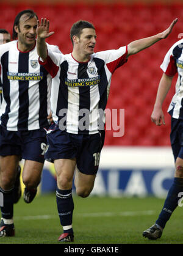
[[[142,232],[156,221],[164,200],[74,196],[73,244],[182,243],[182,207],[167,223],[162,238],[150,241]],[[54,194],[37,196],[30,204],[15,205],[15,237],[0,238],[0,244],[54,244],[62,233]],[[72,244],[72,243],[70,243]]]

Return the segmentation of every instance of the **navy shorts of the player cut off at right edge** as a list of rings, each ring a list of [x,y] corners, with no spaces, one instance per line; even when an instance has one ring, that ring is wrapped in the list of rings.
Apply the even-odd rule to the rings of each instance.
[[[171,118],[171,133],[170,133],[171,148],[176,159],[183,159],[183,120]]]

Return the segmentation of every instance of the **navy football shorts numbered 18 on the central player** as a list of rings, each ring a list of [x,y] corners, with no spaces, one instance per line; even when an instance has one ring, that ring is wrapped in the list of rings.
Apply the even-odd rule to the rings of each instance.
[[[90,135],[72,134],[61,131],[59,126],[54,125],[54,130],[47,134],[48,150],[45,158],[51,162],[55,159],[76,158],[80,172],[88,175],[96,174],[104,137],[105,131]]]

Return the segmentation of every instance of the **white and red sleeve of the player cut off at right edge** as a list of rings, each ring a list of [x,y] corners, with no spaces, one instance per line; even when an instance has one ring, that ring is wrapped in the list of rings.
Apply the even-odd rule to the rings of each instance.
[[[176,58],[173,54],[173,49],[174,48],[170,48],[170,50],[165,55],[162,64],[160,65],[160,68],[167,76],[174,76],[178,71],[178,68],[176,67]]]

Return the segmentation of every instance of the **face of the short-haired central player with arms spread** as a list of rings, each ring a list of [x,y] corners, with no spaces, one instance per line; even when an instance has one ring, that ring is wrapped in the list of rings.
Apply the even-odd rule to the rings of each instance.
[[[94,52],[96,44],[96,32],[95,29],[82,29],[82,33],[79,37],[78,47],[81,53],[91,55]]]

